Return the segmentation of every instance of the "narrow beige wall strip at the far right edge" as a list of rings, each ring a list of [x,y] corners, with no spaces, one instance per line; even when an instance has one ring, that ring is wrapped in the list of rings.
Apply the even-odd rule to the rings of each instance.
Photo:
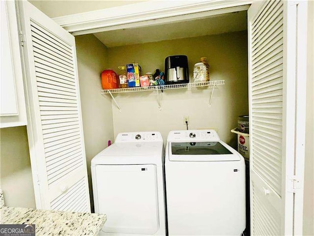
[[[314,235],[314,1],[308,9],[308,72],[304,172],[303,235]]]

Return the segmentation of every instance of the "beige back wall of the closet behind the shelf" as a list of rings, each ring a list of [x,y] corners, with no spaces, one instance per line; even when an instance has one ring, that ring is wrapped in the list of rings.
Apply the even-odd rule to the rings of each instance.
[[[226,80],[215,90],[211,108],[209,88],[165,90],[161,111],[155,91],[120,93],[115,96],[122,112],[112,103],[115,136],[156,130],[166,141],[170,130],[185,129],[183,116],[189,116],[189,129],[215,128],[222,140],[234,145],[236,137],[230,130],[239,115],[248,114],[246,31],[108,48],[108,67],[117,70],[119,65],[138,62],[143,73],[163,71],[164,59],[171,55],[187,55],[190,78],[194,64],[208,57],[211,80]]]

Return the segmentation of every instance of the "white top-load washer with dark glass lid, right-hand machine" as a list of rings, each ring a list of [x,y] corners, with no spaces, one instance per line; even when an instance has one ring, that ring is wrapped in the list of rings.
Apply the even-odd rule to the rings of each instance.
[[[169,236],[239,236],[245,229],[245,163],[214,130],[168,135]]]

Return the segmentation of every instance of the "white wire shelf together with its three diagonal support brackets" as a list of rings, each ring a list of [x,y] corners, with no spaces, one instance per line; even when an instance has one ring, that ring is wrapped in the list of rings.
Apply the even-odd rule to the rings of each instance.
[[[126,89],[103,89],[101,90],[102,94],[110,94],[113,102],[115,103],[116,107],[119,109],[119,112],[122,112],[118,102],[112,95],[113,93],[123,93],[123,92],[139,92],[139,91],[156,91],[157,92],[157,104],[158,109],[161,111],[161,97],[162,91],[166,89],[184,89],[184,88],[196,88],[196,87],[212,87],[210,96],[209,96],[209,104],[208,106],[211,107],[211,100],[214,93],[214,89],[217,85],[224,85],[225,80],[214,80],[208,82],[200,82],[200,83],[189,83],[189,84],[177,84],[177,85],[162,85],[162,86],[150,86],[150,87],[135,87],[135,88],[126,88]],[[161,91],[161,92],[160,92]]]

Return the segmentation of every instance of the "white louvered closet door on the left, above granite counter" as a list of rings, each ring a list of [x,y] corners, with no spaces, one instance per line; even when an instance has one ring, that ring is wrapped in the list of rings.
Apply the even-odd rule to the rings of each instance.
[[[27,1],[19,11],[36,207],[90,212],[74,36]]]

